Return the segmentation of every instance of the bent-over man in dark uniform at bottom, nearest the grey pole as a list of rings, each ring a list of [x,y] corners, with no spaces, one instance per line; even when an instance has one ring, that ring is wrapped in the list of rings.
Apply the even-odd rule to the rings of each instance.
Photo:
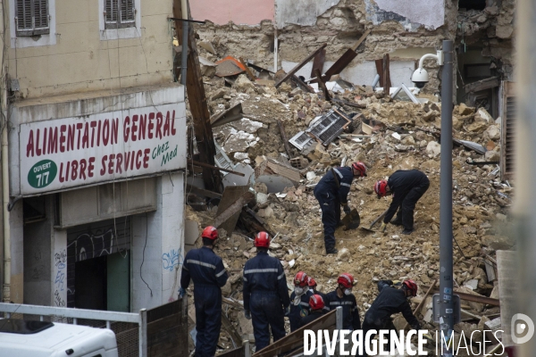
[[[366,333],[375,329],[397,330],[391,319],[393,313],[402,312],[407,323],[414,329],[421,329],[421,325],[415,315],[411,311],[411,306],[408,299],[417,295],[417,285],[415,281],[407,279],[402,282],[402,286],[398,289],[393,287],[391,280],[380,280],[378,282],[378,290],[380,295],[376,297],[370,309],[364,314],[363,321],[363,336]],[[371,339],[373,336],[371,336]]]

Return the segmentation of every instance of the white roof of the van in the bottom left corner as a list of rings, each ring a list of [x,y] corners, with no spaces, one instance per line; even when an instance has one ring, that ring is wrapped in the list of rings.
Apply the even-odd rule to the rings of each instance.
[[[1,322],[2,320],[0,320]],[[115,334],[106,328],[89,328],[54,322],[53,326],[33,334],[0,332],[0,350],[21,357],[50,356],[56,351],[72,349],[75,355],[117,346]],[[26,352],[26,353],[23,353]]]

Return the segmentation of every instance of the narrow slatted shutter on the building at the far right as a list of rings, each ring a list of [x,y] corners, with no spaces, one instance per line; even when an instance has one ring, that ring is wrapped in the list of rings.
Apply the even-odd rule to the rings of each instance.
[[[501,122],[501,179],[513,179],[515,170],[515,111],[514,83],[503,82],[502,87],[502,122]]]

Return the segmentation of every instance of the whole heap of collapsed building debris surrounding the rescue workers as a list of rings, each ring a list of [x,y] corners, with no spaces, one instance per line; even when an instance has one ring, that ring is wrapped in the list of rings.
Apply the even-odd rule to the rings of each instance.
[[[255,255],[252,238],[261,228],[275,236],[270,254],[281,260],[289,289],[299,270],[314,277],[326,293],[336,287],[339,274],[348,271],[358,281],[354,294],[363,318],[377,295],[378,280],[413,278],[420,286],[420,296],[413,299],[414,308],[419,305],[417,317],[425,328],[437,329],[431,296],[424,293],[439,278],[441,104],[431,95],[416,95],[414,103],[359,86],[341,93],[328,91],[331,101],[326,101],[325,95],[310,93],[291,79],[276,88],[277,75],[255,67],[248,71],[264,79],[250,80],[242,71],[205,78],[214,138],[223,158],[216,162],[246,177],[225,173],[220,203],[214,195],[203,206],[207,211],[187,210],[189,220],[204,227],[222,216],[224,202],[226,209],[230,207],[228,190],[239,191],[233,194],[234,201],[255,192],[246,207],[231,212],[234,219],[225,221],[216,246],[230,271],[222,289],[229,321],[222,326],[220,345],[232,348],[239,344],[239,336],[253,332],[242,312],[241,275],[244,263]],[[227,120],[220,125],[222,118]],[[513,246],[507,217],[513,188],[500,179],[500,126],[490,114],[460,104],[452,120],[454,280],[455,290],[465,294],[464,322],[455,329],[456,336],[461,331],[471,336],[471,331],[484,329],[483,324],[486,329],[500,327],[495,252]],[[369,169],[367,178],[354,181],[349,195],[350,205],[367,227],[390,202],[373,195],[377,179],[395,170],[419,169],[428,175],[431,187],[417,203],[411,236],[400,235],[392,225],[386,234],[339,228],[339,254],[326,256],[313,187],[332,166],[354,161]],[[192,191],[188,202],[196,200],[206,197]],[[193,312],[193,305],[190,308]],[[195,318],[193,313],[190,317]],[[403,328],[405,320],[399,317],[396,324]]]

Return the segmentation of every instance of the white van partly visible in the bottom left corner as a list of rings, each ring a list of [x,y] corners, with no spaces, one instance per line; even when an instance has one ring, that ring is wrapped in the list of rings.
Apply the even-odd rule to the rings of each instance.
[[[115,334],[57,322],[0,320],[3,357],[118,357]]]

